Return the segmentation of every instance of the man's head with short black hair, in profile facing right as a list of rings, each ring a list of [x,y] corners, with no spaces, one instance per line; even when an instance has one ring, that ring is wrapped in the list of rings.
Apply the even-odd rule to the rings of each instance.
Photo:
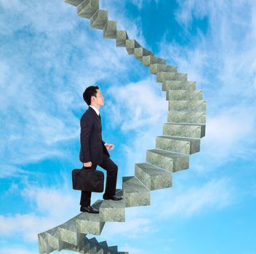
[[[83,94],[84,102],[87,105],[99,108],[104,104],[104,97],[101,94],[99,86],[88,86]]]

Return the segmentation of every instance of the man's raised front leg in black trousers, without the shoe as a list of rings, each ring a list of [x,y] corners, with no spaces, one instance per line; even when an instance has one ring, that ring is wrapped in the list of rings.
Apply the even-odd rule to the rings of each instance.
[[[99,165],[107,171],[107,181],[105,184],[105,196],[112,197],[116,194],[116,179],[118,167],[110,157],[103,153],[103,162]]]

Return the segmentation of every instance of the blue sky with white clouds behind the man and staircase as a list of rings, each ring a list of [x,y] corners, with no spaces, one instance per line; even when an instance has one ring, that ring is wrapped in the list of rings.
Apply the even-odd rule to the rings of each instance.
[[[207,100],[207,134],[173,187],[97,239],[131,254],[256,253],[256,4],[101,0],[119,30],[188,73]],[[37,253],[37,234],[79,213],[85,87],[97,83],[103,139],[134,174],[167,122],[161,84],[63,1],[0,0],[0,253]],[[100,198],[93,194],[92,201]],[[68,251],[63,251],[68,253]]]

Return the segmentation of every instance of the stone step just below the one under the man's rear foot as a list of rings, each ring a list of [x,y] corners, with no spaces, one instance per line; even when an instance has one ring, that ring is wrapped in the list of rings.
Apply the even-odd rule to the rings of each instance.
[[[76,232],[76,217],[57,226],[57,231],[59,239],[63,242],[68,242],[71,245],[79,245],[84,237],[86,237],[86,234]]]

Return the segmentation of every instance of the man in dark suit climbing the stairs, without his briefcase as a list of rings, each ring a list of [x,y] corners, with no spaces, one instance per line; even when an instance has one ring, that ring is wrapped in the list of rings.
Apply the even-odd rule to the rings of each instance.
[[[79,160],[83,163],[84,169],[96,169],[97,165],[107,171],[104,200],[121,200],[116,197],[116,179],[118,167],[110,158],[108,150],[114,148],[113,144],[106,144],[102,140],[102,126],[100,118],[100,106],[104,105],[104,97],[98,86],[89,86],[85,89],[84,101],[89,106],[84,115],[81,116],[80,142],[81,149]],[[92,192],[81,191],[81,212],[99,213],[99,210],[90,205]]]

